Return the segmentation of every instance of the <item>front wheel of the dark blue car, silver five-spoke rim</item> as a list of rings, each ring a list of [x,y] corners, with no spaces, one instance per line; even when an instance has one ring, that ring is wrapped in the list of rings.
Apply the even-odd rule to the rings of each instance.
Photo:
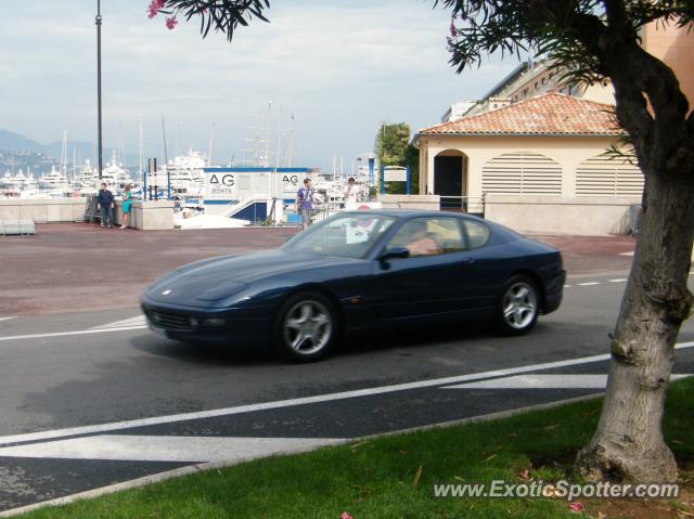
[[[335,345],[337,326],[337,312],[327,297],[317,291],[296,294],[280,307],[274,347],[295,362],[318,361]]]

